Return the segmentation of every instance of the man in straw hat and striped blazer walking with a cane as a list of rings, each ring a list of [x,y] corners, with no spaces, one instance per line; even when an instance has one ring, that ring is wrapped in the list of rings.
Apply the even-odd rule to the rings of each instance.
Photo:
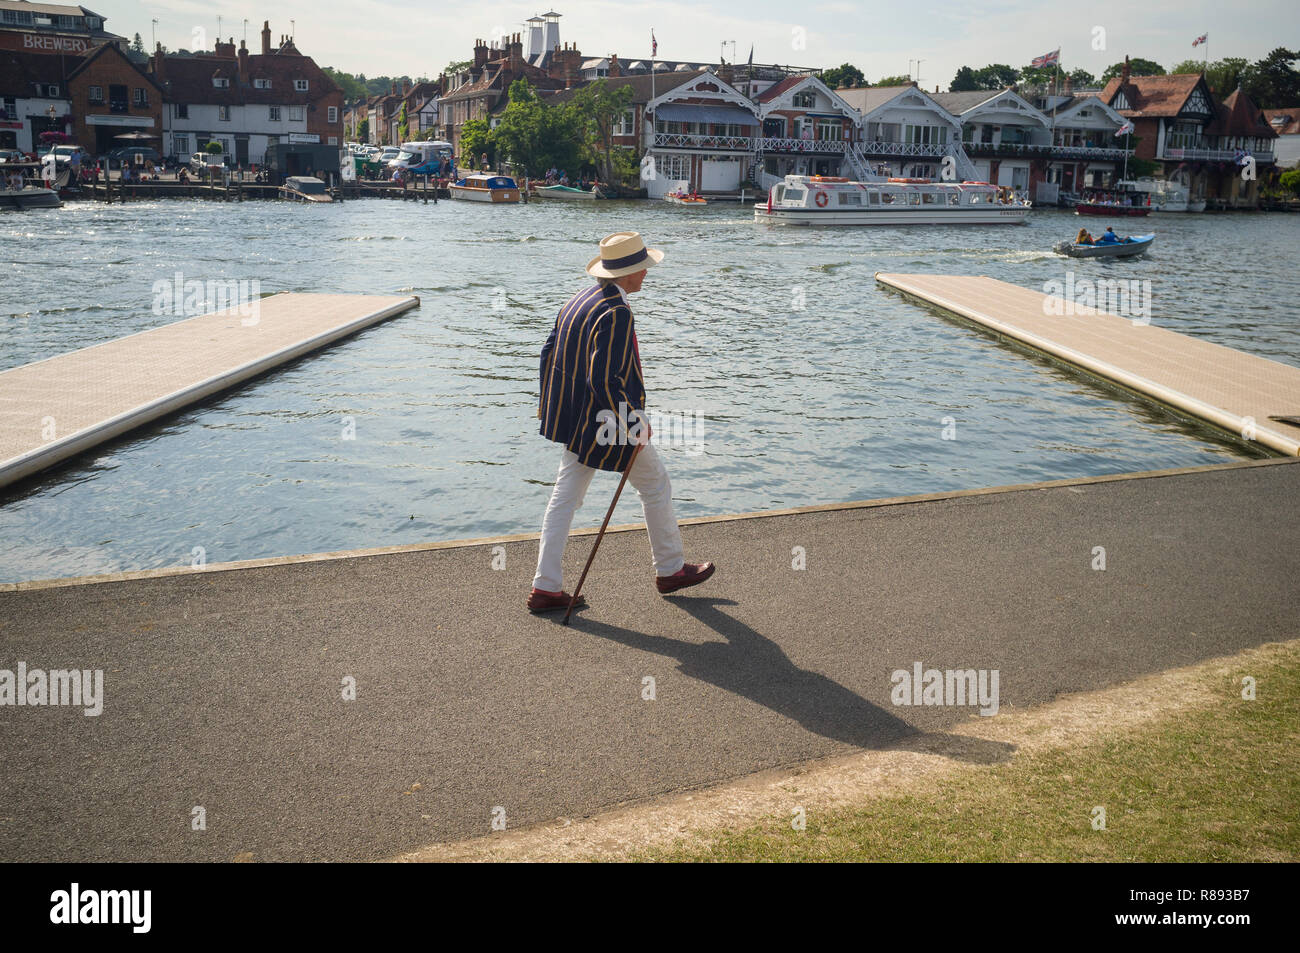
[[[616,473],[632,465],[628,482],[641,497],[650,533],[655,586],[668,593],[699,585],[714,575],[712,563],[688,563],[672,512],[672,485],[650,443],[645,417],[641,352],[628,295],[641,290],[646,269],[663,252],[646,248],[636,231],[601,241],[601,254],[586,273],[597,283],[573,295],[560,309],[542,347],[541,433],[564,445],[559,475],[542,519],[537,575],[528,595],[530,612],[567,608],[562,560],[573,514],[599,469]],[[640,452],[633,452],[637,445]],[[578,597],[577,605],[585,605]]]

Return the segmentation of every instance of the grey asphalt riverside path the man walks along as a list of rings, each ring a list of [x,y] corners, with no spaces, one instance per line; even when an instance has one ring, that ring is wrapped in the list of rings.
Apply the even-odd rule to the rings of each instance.
[[[1006,712],[1295,637],[1297,498],[1275,463],[689,525],[720,569],[671,599],[623,532],[569,628],[523,610],[533,541],[0,593],[0,668],[107,696],[0,709],[0,859],[384,858],[924,746],[978,715],[893,706],[914,662],[997,670]]]

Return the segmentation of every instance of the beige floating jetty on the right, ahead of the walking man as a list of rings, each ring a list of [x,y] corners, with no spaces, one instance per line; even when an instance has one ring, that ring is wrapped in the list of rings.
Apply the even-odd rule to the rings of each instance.
[[[1300,368],[1096,308],[1046,313],[1049,295],[994,278],[881,272],[876,281],[1238,437],[1300,455]]]

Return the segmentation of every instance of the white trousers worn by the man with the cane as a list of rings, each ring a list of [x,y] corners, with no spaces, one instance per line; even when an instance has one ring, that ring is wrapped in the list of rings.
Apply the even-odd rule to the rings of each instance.
[[[533,588],[558,593],[563,585],[564,545],[568,542],[573,514],[582,506],[586,488],[592,477],[601,471],[578,463],[577,454],[566,450],[560,459],[560,472],[555,477],[551,502],[546,504],[542,519],[542,541],[537,550],[537,575]],[[621,478],[621,477],[620,477]],[[637,454],[628,482],[641,497],[641,510],[646,517],[650,533],[650,553],[654,556],[656,576],[671,576],[685,562],[681,551],[681,533],[677,532],[677,517],[672,514],[672,484],[668,471],[655,452],[654,445],[646,445]]]

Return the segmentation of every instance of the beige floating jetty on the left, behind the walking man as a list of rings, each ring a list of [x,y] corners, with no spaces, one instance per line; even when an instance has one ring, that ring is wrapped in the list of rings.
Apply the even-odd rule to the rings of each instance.
[[[0,486],[417,307],[278,294],[0,373]]]

